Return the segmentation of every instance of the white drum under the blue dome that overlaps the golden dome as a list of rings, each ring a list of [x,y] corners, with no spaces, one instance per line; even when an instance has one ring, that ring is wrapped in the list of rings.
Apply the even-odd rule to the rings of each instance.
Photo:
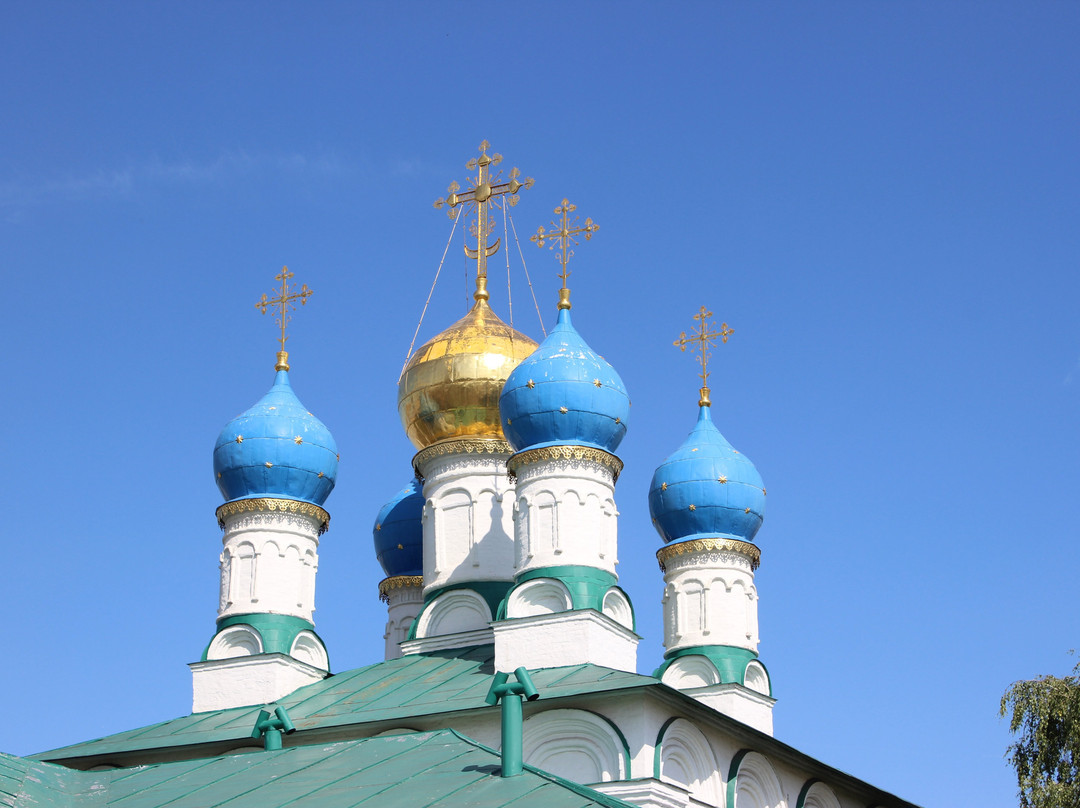
[[[544,459],[516,469],[517,573],[564,565],[616,574],[615,476],[588,459]]]

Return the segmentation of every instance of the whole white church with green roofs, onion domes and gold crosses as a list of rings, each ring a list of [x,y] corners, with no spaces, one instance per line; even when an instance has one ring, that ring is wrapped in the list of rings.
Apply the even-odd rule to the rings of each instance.
[[[504,323],[491,214],[531,180],[503,178],[488,150],[436,202],[455,228],[471,219],[472,308],[397,382],[415,477],[373,513],[384,658],[332,672],[313,621],[339,454],[292,386],[286,325],[311,291],[283,269],[257,304],[281,327],[272,385],[213,449],[220,592],[192,712],[0,755],[0,805],[910,806],[773,738],[755,585],[767,488],[714,422],[710,348],[732,332],[705,307],[676,340],[701,362],[698,416],[648,491],[664,655],[638,659],[635,610],[654,606],[619,585],[616,504],[631,398],[568,286],[571,246],[597,227],[563,201],[532,237],[562,262],[555,325],[538,344]]]

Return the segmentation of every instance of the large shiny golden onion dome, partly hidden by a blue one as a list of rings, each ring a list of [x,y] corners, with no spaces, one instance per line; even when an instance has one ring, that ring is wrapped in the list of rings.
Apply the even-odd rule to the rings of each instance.
[[[397,381],[397,413],[417,448],[453,437],[505,440],[499,395],[537,344],[491,310],[486,280],[477,279],[472,310],[421,346]]]

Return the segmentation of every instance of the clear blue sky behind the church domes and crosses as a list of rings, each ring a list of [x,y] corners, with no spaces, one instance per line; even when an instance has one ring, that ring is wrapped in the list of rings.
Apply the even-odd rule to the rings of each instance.
[[[769,490],[777,737],[922,805],[1014,805],[998,699],[1077,645],[1078,35],[1066,2],[3,4],[0,749],[190,709],[211,452],[272,381],[253,304],[284,264],[315,291],[293,385],[341,448],[318,628],[335,670],[379,657],[370,529],[410,474],[431,203],[487,138],[537,180],[512,214],[549,327],[557,265],[526,234],[564,197],[600,225],[570,285],[633,400],[640,669],[646,493],[699,383],[672,340],[705,305],[735,331],[714,418]],[[468,271],[455,243],[421,340]]]

